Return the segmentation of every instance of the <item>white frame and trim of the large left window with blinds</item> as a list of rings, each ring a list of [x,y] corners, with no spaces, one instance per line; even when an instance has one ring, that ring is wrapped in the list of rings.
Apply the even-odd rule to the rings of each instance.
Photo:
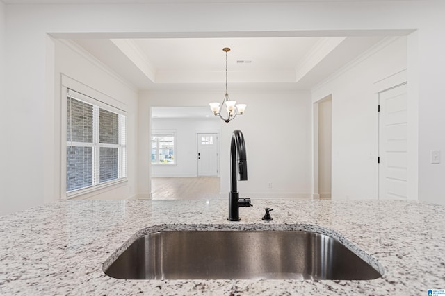
[[[84,103],[88,103],[90,105],[93,105],[93,108],[97,108],[96,112],[93,112],[93,121],[96,120],[97,123],[97,130],[94,130],[93,132],[93,143],[83,143],[83,142],[73,142],[73,146],[83,146],[83,147],[89,147],[93,146],[95,142],[97,142],[97,150],[100,149],[100,147],[111,147],[118,148],[118,155],[121,155],[122,157],[118,157],[118,179],[114,180],[108,180],[102,183],[99,183],[100,177],[97,175],[98,179],[97,184],[95,184],[95,173],[94,168],[92,168],[92,185],[83,187],[81,189],[74,189],[72,191],[67,192],[67,92],[69,89],[72,89],[74,92],[78,92],[79,94],[82,94],[83,96],[81,98],[76,98],[79,101],[83,101]],[[75,98],[75,96],[73,96]],[[126,107],[127,105],[124,105],[122,102],[116,100],[115,98],[111,98],[109,96],[106,96],[105,94],[102,94],[101,92],[95,91],[95,89],[92,89],[86,85],[81,84],[80,82],[77,82],[76,80],[72,80],[72,78],[69,78],[67,76],[62,75],[62,92],[61,92],[61,169],[60,169],[60,175],[61,175],[61,185],[60,185],[60,198],[62,199],[70,199],[70,198],[76,198],[81,195],[85,195],[84,198],[88,198],[89,196],[96,195],[102,192],[106,192],[110,189],[113,189],[112,187],[118,187],[118,186],[124,186],[128,182],[127,180],[127,162],[128,162],[128,132],[127,132],[127,125],[128,125],[128,116]],[[118,124],[119,124],[119,143],[118,144],[105,144],[105,143],[98,143],[99,142],[99,108],[102,108],[106,111],[113,112],[115,114],[118,114],[118,116],[124,116],[125,122],[124,124],[121,123],[119,120],[120,117],[118,117]],[[94,117],[97,116],[96,119]],[[93,124],[94,125],[94,124]],[[122,137],[125,137],[122,139]],[[124,144],[122,144],[122,141],[124,141]],[[71,142],[70,142],[71,143]],[[119,146],[119,147],[118,147]],[[93,147],[93,154],[94,154],[95,148]],[[97,154],[97,157],[95,157],[95,162],[99,162],[99,154]],[[94,159],[94,158],[93,158]],[[95,164],[92,164],[93,166]],[[100,166],[97,166],[97,170],[100,169]],[[122,172],[122,174],[121,174]]]

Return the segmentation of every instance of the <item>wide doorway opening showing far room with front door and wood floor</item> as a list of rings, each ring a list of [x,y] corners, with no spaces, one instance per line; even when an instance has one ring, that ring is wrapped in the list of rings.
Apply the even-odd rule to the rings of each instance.
[[[219,198],[220,120],[209,107],[152,107],[151,113],[151,198]]]

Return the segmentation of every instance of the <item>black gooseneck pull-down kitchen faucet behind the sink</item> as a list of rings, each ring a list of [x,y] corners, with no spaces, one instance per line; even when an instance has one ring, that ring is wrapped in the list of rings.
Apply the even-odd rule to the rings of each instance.
[[[238,162],[237,162],[238,161]],[[239,207],[252,207],[250,198],[239,198],[236,188],[236,171],[240,181],[248,180],[248,162],[245,157],[244,136],[241,130],[234,130],[230,144],[230,192],[229,192],[229,221],[239,221]]]

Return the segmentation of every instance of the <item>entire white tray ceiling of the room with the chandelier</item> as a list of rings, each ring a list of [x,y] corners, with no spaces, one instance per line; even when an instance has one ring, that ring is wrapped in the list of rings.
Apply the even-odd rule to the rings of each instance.
[[[140,92],[224,89],[308,90],[385,36],[73,39]],[[238,61],[249,61],[241,62]]]

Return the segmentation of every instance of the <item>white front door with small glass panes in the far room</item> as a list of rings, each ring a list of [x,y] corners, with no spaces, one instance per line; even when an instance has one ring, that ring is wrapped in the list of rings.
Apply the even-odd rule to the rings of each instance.
[[[197,175],[218,176],[218,134],[197,134]]]

